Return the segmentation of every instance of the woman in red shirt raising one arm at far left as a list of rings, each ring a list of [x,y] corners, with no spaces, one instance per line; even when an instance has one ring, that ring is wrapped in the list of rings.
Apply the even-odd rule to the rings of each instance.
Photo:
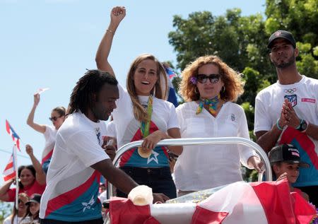
[[[25,151],[30,156],[32,165],[21,165],[18,167],[19,177],[19,191],[18,193],[25,193],[28,196],[33,194],[43,194],[46,186],[46,175],[42,169],[42,165],[33,155],[33,148],[30,145],[25,146]],[[16,188],[10,188],[16,181],[15,178],[8,179],[0,187],[1,201],[14,201],[16,196]]]

